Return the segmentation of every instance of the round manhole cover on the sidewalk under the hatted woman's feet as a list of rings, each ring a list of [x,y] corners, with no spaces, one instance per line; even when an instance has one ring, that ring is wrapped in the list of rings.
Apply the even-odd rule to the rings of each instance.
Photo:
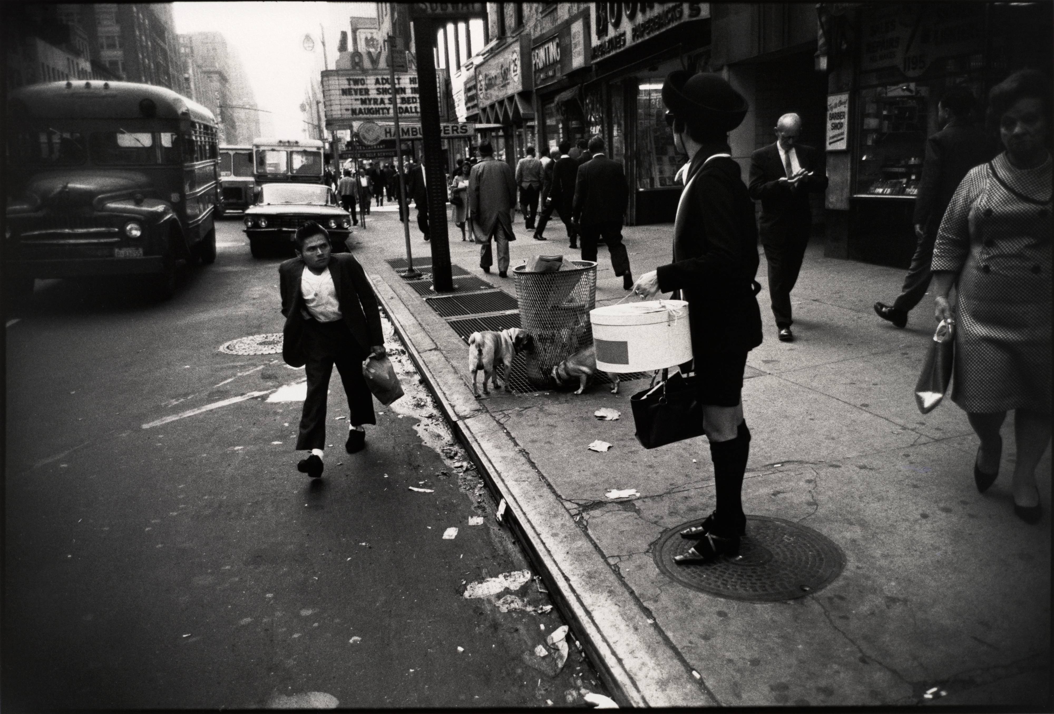
[[[655,549],[656,563],[670,578],[695,590],[730,600],[772,602],[804,597],[826,587],[845,566],[845,556],[828,538],[782,518],[746,517],[746,536],[738,559],[679,566],[695,540],[680,532],[703,519],[667,531]]]

